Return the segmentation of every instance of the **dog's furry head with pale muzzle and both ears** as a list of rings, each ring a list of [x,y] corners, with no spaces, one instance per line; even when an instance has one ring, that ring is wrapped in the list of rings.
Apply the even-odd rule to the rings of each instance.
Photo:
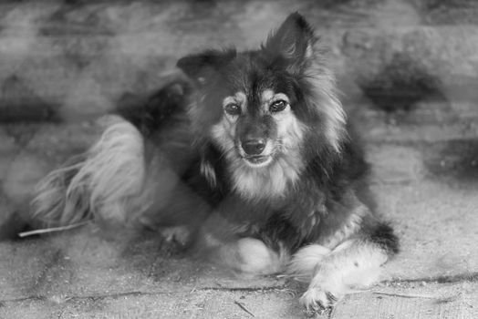
[[[312,153],[339,151],[345,118],[316,42],[307,21],[292,14],[258,50],[179,60],[198,88],[191,109],[198,138],[221,149],[241,180],[279,174],[286,184]]]

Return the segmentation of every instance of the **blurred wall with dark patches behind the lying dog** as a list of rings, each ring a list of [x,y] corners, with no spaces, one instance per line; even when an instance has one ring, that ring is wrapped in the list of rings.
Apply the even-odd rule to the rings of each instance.
[[[63,153],[59,139],[83,148],[88,128],[79,122],[88,126],[160,87],[179,57],[207,47],[255,48],[294,11],[328,48],[342,100],[365,139],[466,139],[445,150],[471,151],[469,159],[432,170],[477,166],[473,0],[3,1],[0,180],[18,180],[17,170],[36,175],[30,168],[44,155]],[[26,160],[19,153],[28,149],[51,154]]]

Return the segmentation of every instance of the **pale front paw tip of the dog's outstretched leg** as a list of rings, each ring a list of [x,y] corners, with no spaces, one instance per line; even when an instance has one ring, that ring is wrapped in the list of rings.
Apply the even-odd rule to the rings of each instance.
[[[312,316],[330,311],[340,298],[338,293],[330,293],[321,288],[309,288],[300,297],[299,302],[304,306],[306,313]]]

